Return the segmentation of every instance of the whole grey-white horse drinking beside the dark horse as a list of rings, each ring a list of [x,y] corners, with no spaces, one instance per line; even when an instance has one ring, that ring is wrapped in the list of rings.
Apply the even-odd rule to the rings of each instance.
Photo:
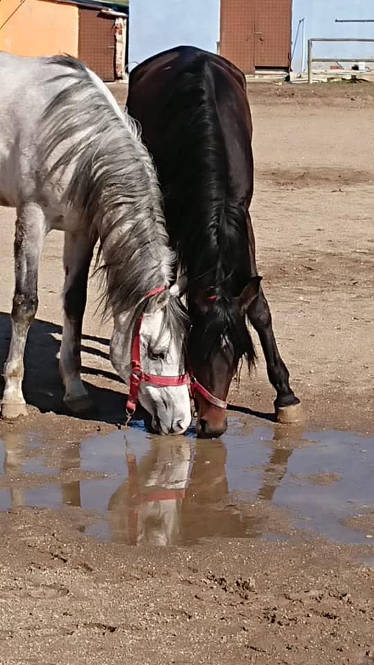
[[[103,304],[114,317],[112,363],[125,382],[131,376],[137,381],[133,401],[139,399],[150,413],[154,431],[184,432],[191,416],[181,285],[171,286],[175,257],[154,166],[136,125],[103,82],[70,57],[0,53],[0,89],[0,204],[17,209],[3,417],[27,414],[24,348],[37,310],[39,258],[48,231],[60,229],[64,402],[74,413],[91,407],[80,378],[80,338],[89,265],[99,240]],[[136,335],[141,370],[134,378]]]

